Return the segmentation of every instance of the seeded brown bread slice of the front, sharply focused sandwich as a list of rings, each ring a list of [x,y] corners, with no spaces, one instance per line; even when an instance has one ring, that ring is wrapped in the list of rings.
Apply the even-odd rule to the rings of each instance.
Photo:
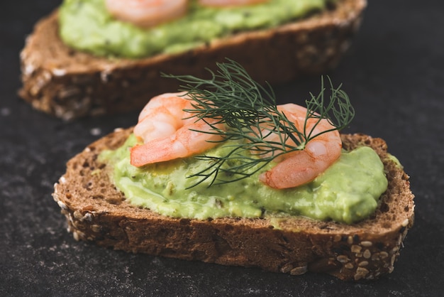
[[[384,163],[389,188],[377,211],[353,225],[294,217],[274,228],[269,219],[174,219],[126,202],[97,161],[104,149],[123,144],[132,129],[120,129],[88,146],[67,163],[53,198],[74,238],[127,252],[259,267],[304,274],[323,272],[343,280],[377,279],[392,272],[414,222],[409,176],[387,155],[382,139],[342,135],[343,146],[370,146]]]

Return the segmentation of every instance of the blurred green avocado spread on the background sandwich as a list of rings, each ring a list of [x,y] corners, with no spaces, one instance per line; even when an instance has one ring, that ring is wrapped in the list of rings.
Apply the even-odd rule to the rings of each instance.
[[[180,53],[239,31],[272,28],[326,7],[331,0],[270,0],[236,8],[206,8],[192,1],[186,16],[141,29],[117,21],[104,0],[65,0],[60,6],[60,36],[77,50],[94,55],[141,58]]]

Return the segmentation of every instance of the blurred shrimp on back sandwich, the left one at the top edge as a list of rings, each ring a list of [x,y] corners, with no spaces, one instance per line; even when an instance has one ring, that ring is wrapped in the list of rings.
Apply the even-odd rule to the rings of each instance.
[[[147,28],[183,16],[188,0],[105,0],[115,18]]]

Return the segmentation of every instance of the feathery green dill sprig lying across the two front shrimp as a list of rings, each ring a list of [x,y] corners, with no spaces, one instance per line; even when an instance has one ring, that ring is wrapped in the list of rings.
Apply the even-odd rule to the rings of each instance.
[[[211,131],[200,132],[222,136],[219,142],[226,142],[231,148],[224,156],[196,156],[208,161],[209,165],[189,175],[189,178],[197,178],[194,185],[208,179],[209,185],[213,185],[248,178],[283,153],[302,150],[316,136],[345,128],[355,115],[348,95],[340,90],[342,85],[333,87],[328,77],[331,94],[327,96],[322,77],[321,92],[316,96],[310,93],[310,99],[306,100],[304,130],[299,131],[284,112],[278,110],[270,85],[262,86],[252,80],[248,72],[233,60],[216,65],[217,72],[208,70],[209,79],[165,75],[185,83],[182,91],[192,100],[192,109],[186,111],[192,117],[204,121],[212,119],[206,121]],[[307,130],[309,119],[315,119],[315,124]],[[315,133],[322,119],[327,119],[334,128]],[[218,129],[216,124],[221,123],[225,124],[226,130]],[[274,136],[272,140],[270,136]]]

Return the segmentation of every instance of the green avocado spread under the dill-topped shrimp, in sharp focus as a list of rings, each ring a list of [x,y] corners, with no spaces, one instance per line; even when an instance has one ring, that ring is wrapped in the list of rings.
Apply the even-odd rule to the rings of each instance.
[[[297,188],[270,188],[253,175],[211,187],[203,182],[187,190],[195,180],[186,176],[204,168],[204,161],[191,157],[136,168],[129,161],[128,148],[134,144],[132,134],[121,148],[101,153],[101,161],[113,166],[111,179],[132,204],[171,217],[204,220],[301,215],[351,224],[371,215],[387,189],[382,161],[366,146],[343,151],[327,171]],[[206,155],[221,156],[226,149],[218,146]]]

